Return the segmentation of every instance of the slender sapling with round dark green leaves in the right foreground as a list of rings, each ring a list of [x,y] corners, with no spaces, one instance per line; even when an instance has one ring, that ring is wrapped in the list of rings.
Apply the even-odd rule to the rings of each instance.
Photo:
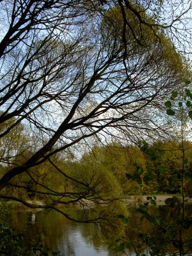
[[[191,81],[186,81],[186,85],[189,85]],[[140,221],[146,220],[148,221],[149,225],[151,225],[153,232],[145,232],[142,231],[140,228],[134,230],[134,233],[138,233],[137,239],[133,241],[130,236],[131,226],[128,226],[127,235],[128,237],[124,239],[123,243],[116,247],[116,250],[124,250],[125,246],[129,247],[131,244],[134,246],[137,255],[140,255],[140,250],[138,244],[144,243],[149,248],[149,253],[151,256],[157,255],[165,255],[164,250],[168,251],[170,255],[177,255],[179,253],[180,256],[186,255],[192,251],[192,236],[191,234],[187,233],[187,230],[192,229],[192,211],[189,209],[189,212],[186,212],[186,202],[189,198],[192,198],[192,161],[189,160],[187,157],[187,150],[191,150],[191,143],[186,143],[184,141],[184,134],[185,134],[185,123],[188,122],[188,119],[191,119],[190,111],[186,110],[188,114],[186,115],[186,111],[183,107],[186,104],[186,107],[189,108],[189,101],[192,99],[192,95],[189,89],[185,89],[186,95],[182,95],[182,102],[180,101],[178,104],[179,110],[177,113],[178,119],[180,119],[181,124],[181,139],[180,145],[176,148],[177,151],[180,151],[181,154],[177,157],[179,158],[179,165],[176,167],[174,166],[173,172],[171,173],[170,179],[177,181],[180,184],[180,194],[181,197],[178,198],[177,196],[173,196],[171,198],[167,198],[165,200],[165,204],[169,207],[174,209],[175,215],[171,219],[171,221],[167,221],[166,218],[161,218],[157,215],[152,215],[150,213],[150,207],[157,207],[156,206],[156,199],[157,197],[148,196],[146,199],[148,203],[141,204],[137,211],[140,212]],[[172,92],[171,100],[175,101],[175,98],[178,96],[176,91]],[[191,103],[190,103],[191,104]],[[167,108],[172,107],[172,102],[165,103]],[[181,111],[180,111],[181,109]],[[175,111],[171,108],[168,111],[169,116],[175,116]],[[156,166],[160,164],[159,173],[166,175],[165,171],[166,168],[162,166],[161,161],[162,157],[164,157],[164,153],[162,154],[162,148],[159,147],[149,147],[148,143],[142,141],[139,143],[140,149],[143,151],[144,154],[148,155],[151,160],[156,161]],[[165,150],[165,149],[163,149]],[[169,150],[172,150],[169,148]],[[190,151],[191,152],[191,151]],[[158,163],[159,162],[159,163]],[[136,171],[133,175],[127,174],[127,177],[133,180],[136,180],[137,183],[141,184],[142,179],[143,182],[148,183],[150,180],[155,178],[155,175],[152,175],[151,166],[146,168],[146,172],[143,171],[142,167],[137,166]],[[189,184],[190,189],[187,187]],[[122,218],[124,220],[123,215],[118,215],[118,218]],[[129,223],[129,221],[124,221],[125,223]],[[133,229],[132,229],[133,230]],[[135,244],[134,244],[135,243]],[[175,248],[172,249],[171,245]],[[174,251],[176,250],[177,253]],[[166,252],[167,253],[167,252]],[[142,255],[145,255],[143,253]]]

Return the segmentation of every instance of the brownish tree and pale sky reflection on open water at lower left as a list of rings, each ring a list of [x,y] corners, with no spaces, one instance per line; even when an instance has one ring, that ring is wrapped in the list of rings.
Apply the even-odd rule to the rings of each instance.
[[[72,209],[70,209],[72,211]],[[74,211],[74,209],[73,209]],[[79,209],[74,211],[76,215],[81,215]],[[32,215],[35,213],[36,221],[32,222]],[[101,248],[108,248],[107,241],[103,239],[101,233],[95,233],[94,224],[74,223],[64,218],[57,212],[38,211],[38,212],[12,212],[14,226],[18,232],[25,234],[25,241],[28,242],[35,234],[45,234],[44,241],[48,247],[57,249],[62,256],[73,256],[81,241],[87,247],[94,248],[96,252]],[[107,255],[107,254],[106,254]],[[117,255],[118,256],[118,255]]]

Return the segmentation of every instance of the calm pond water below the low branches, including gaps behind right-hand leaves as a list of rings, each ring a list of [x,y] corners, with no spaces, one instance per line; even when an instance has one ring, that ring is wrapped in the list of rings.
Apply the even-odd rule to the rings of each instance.
[[[80,209],[73,209],[80,211]],[[158,206],[155,210],[162,217],[173,217],[174,212],[167,206]],[[130,211],[131,214],[131,211]],[[61,256],[123,256],[108,249],[108,241],[102,233],[95,232],[93,224],[82,224],[68,220],[55,211],[45,210],[14,210],[10,216],[12,225],[19,232],[25,234],[26,242],[36,234],[44,234],[44,242],[48,247],[58,250]],[[137,215],[133,215],[133,222],[137,222]],[[148,230],[147,222],[143,223],[143,230]],[[175,249],[173,248],[173,251]],[[172,251],[172,252],[173,252]],[[134,256],[129,250],[127,255]],[[192,254],[188,254],[192,255]]]

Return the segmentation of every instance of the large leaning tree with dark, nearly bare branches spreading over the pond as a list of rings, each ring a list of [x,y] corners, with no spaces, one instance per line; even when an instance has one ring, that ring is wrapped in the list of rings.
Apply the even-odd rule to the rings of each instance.
[[[154,3],[148,5],[152,10]],[[1,198],[62,212],[58,204],[68,204],[69,198],[71,203],[89,200],[90,192],[97,192],[92,183],[74,179],[55,160],[68,158],[67,151],[86,150],[110,138],[136,142],[163,131],[158,115],[164,108],[160,99],[170,96],[190,76],[164,29],[172,28],[186,10],[169,26],[162,26],[155,14],[144,11],[144,2],[102,4],[0,1],[4,31],[0,43],[0,124],[12,120],[0,138],[23,123],[32,137],[41,140],[24,163],[12,166],[1,177],[0,189],[25,173],[41,187],[36,193],[52,196],[52,200],[40,206],[6,193],[1,193]],[[64,181],[73,180],[84,190],[55,191],[51,185],[40,183],[34,170],[45,161]],[[18,184],[17,188],[32,190]],[[108,199],[101,197],[106,203]],[[107,219],[107,215],[91,221],[101,219]]]

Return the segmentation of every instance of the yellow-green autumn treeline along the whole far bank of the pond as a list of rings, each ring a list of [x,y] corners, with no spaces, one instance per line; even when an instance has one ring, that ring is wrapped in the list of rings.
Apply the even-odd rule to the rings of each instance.
[[[38,147],[38,140],[29,136],[23,125],[17,126],[0,145],[0,174],[3,175],[13,165],[19,166],[26,161],[35,151],[34,145]],[[52,160],[63,173],[46,161],[14,177],[10,186],[5,189],[9,191],[9,195],[46,201],[54,197],[51,195],[54,194],[52,191],[75,192],[80,195],[85,189],[83,184],[95,188],[98,198],[99,195],[112,195],[114,198],[120,195],[179,193],[181,182],[178,170],[182,169],[183,164],[181,145],[169,141],[154,143],[148,147],[149,154],[143,153],[136,145],[123,147],[113,143],[101,147],[94,146],[78,161],[73,157],[55,155]],[[158,148],[160,158],[150,155],[150,151],[153,152],[155,148]],[[185,157],[190,163],[192,143],[185,141],[184,148]],[[140,184],[126,177],[126,174],[133,175],[139,167],[143,169]],[[143,182],[143,175],[149,167],[151,179],[146,184]],[[184,185],[186,190],[192,189],[189,183]],[[43,192],[44,186],[50,188],[49,195]],[[70,201],[70,197],[67,200]]]

